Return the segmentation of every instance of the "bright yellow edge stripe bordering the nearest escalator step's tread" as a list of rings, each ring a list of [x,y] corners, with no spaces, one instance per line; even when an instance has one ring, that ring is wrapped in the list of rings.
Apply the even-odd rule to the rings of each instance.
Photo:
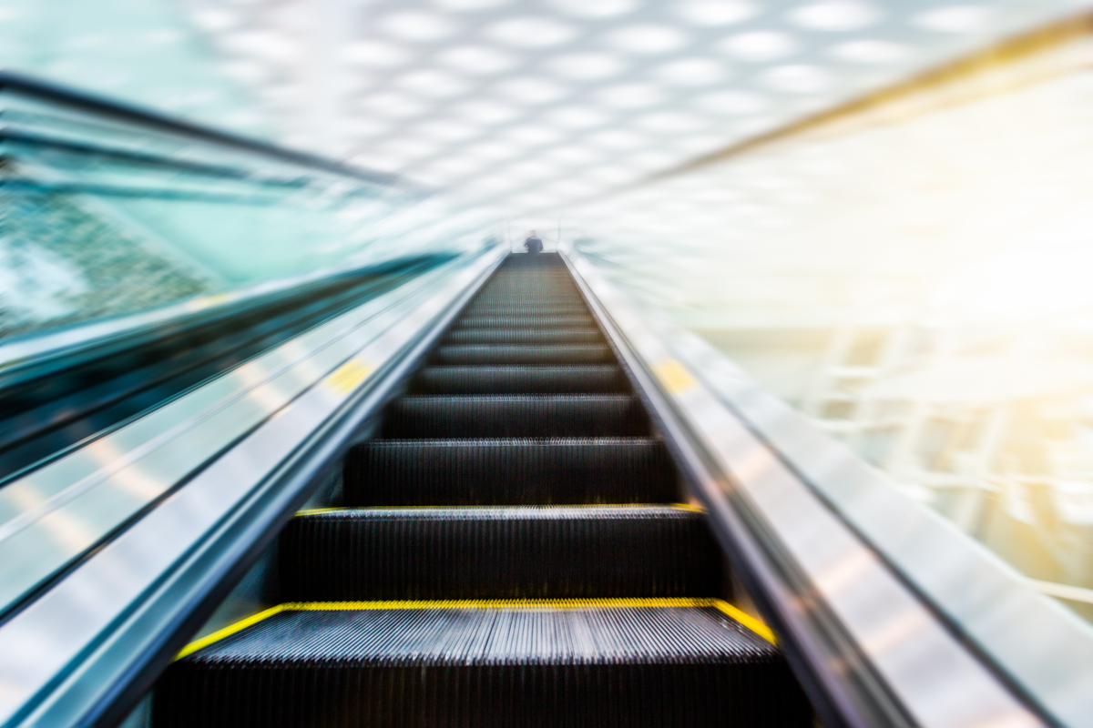
[[[175,659],[181,659],[187,655],[208,647],[214,642],[228,637],[236,632],[247,629],[252,624],[279,614],[283,611],[364,611],[378,609],[634,609],[642,607],[713,607],[740,622],[749,630],[763,637],[771,644],[777,644],[774,632],[766,624],[737,609],[724,599],[687,599],[687,598],[666,598],[666,599],[435,599],[435,600],[391,600],[391,601],[287,601],[275,607],[271,607],[257,614],[228,624],[222,630],[216,630],[207,634],[200,640],[196,640],[183,647]]]

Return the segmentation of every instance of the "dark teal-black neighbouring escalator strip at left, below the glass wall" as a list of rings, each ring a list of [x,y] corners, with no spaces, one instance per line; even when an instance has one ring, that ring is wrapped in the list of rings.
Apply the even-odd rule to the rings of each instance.
[[[443,262],[421,256],[334,277],[226,312],[191,314],[150,342],[0,373],[0,485]],[[140,333],[131,337],[139,338]],[[60,357],[59,357],[60,358]],[[67,360],[66,360],[67,359]]]

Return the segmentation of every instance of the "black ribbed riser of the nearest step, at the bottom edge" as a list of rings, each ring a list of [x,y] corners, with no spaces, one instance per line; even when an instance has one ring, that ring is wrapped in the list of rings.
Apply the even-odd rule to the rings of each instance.
[[[781,660],[761,665],[176,664],[156,728],[809,728]]]

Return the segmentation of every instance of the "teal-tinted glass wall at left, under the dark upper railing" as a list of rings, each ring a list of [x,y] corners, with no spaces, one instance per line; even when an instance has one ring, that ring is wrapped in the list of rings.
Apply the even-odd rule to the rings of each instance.
[[[0,104],[0,336],[482,244],[395,178],[17,79]]]

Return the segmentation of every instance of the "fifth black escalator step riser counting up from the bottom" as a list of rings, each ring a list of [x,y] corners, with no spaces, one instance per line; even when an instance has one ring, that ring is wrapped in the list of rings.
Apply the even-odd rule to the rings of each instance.
[[[546,394],[627,392],[630,381],[613,365],[581,367],[425,367],[414,394]]]

